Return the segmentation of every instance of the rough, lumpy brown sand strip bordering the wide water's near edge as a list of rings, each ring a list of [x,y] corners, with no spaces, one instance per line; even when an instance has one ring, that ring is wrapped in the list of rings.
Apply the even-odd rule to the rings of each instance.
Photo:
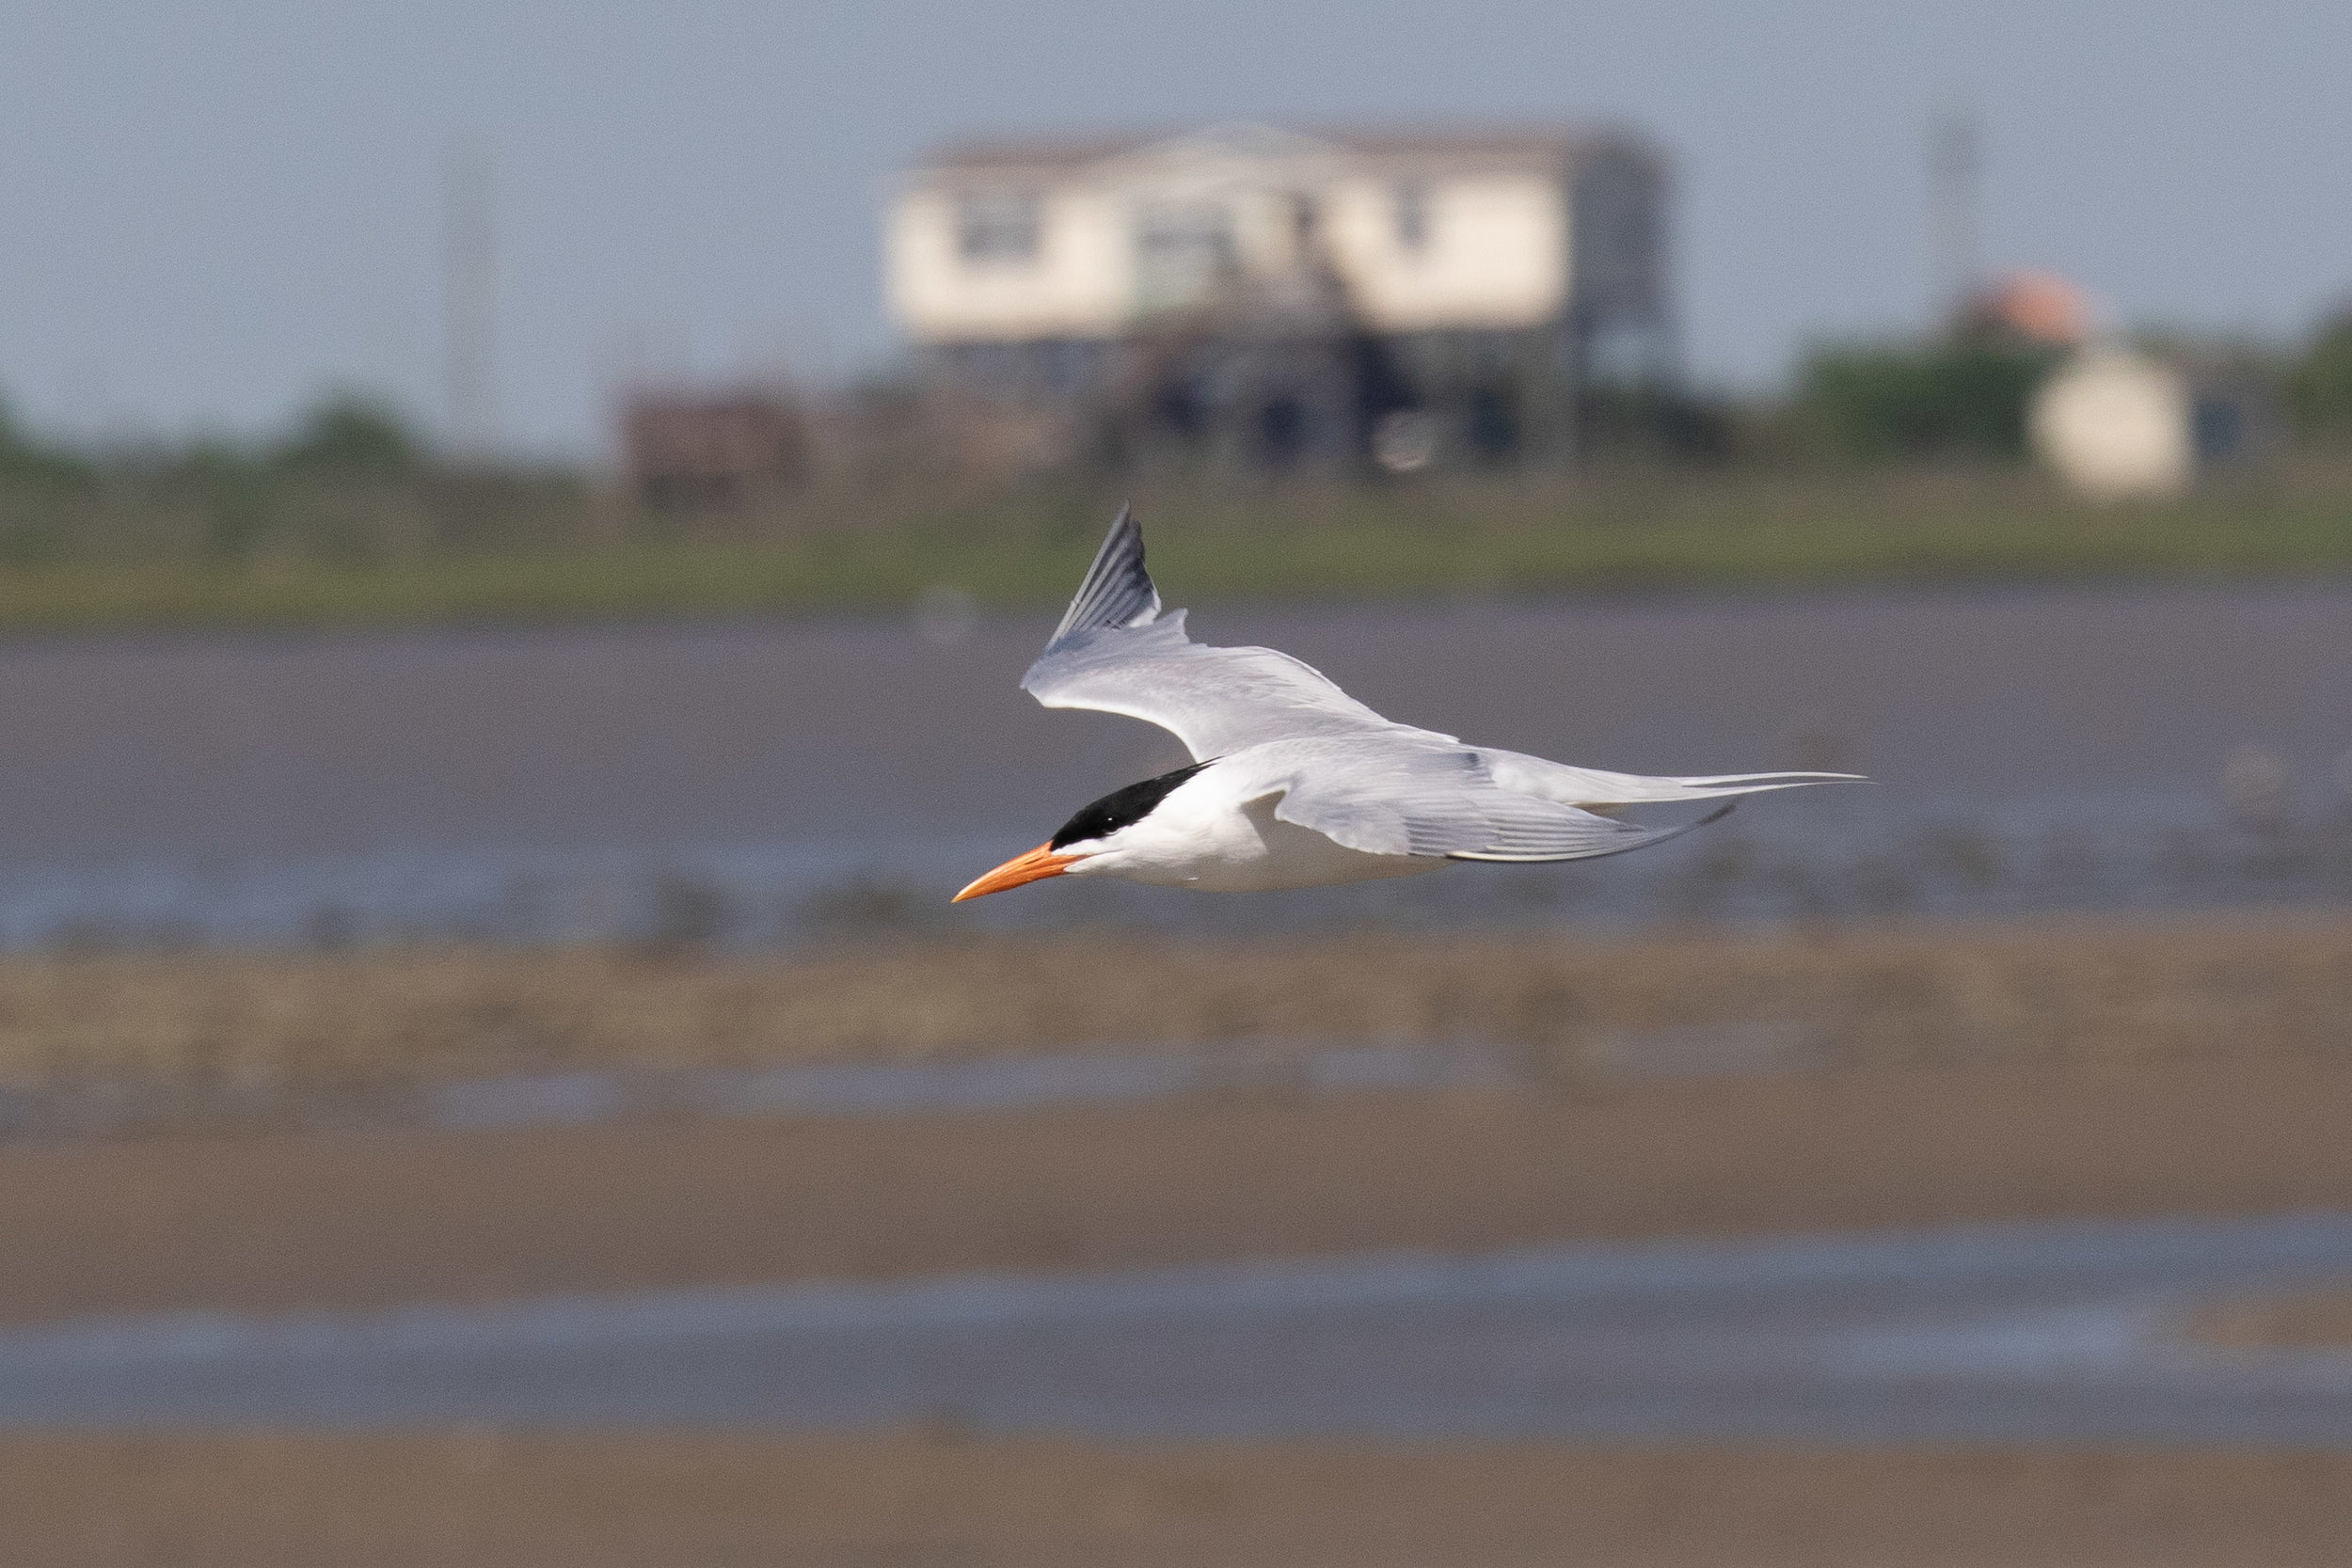
[[[2340,910],[1595,938],[1150,936],[814,957],[557,947],[0,959],[0,1086],[350,1086],[1247,1041],[1503,1041],[1564,1081],[2352,1060]]]

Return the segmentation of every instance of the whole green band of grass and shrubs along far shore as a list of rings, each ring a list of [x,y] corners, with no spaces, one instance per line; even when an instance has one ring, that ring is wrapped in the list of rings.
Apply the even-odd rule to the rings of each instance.
[[[2352,571],[2352,315],[2249,371],[2303,444],[2164,505],[2091,508],[2016,461],[2049,357],[1978,334],[1820,350],[1783,402],[1621,393],[1573,477],[983,484],[901,433],[687,512],[437,461],[353,395],[275,442],[118,454],[0,407],[0,632],[1047,607],[1129,494],[1185,599]]]

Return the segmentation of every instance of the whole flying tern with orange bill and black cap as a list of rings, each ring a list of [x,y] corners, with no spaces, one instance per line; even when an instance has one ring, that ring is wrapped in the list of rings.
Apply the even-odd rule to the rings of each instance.
[[[1047,708],[1157,724],[1192,764],[1105,795],[955,903],[1044,877],[1254,893],[1456,860],[1590,860],[1703,827],[1736,802],[1679,827],[1604,816],[1616,806],[1853,778],[1604,773],[1383,719],[1289,654],[1192,642],[1181,609],[1162,614],[1124,508],[1021,689]]]

